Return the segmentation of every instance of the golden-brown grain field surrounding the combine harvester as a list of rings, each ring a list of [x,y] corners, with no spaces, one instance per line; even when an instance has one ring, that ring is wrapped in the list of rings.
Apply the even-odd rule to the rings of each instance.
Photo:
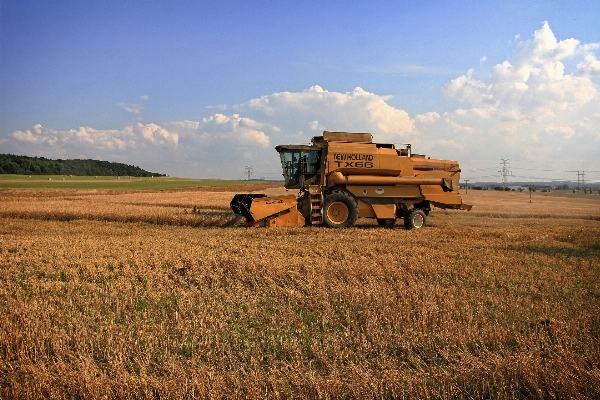
[[[269,230],[238,189],[0,192],[0,397],[600,397],[600,196]]]

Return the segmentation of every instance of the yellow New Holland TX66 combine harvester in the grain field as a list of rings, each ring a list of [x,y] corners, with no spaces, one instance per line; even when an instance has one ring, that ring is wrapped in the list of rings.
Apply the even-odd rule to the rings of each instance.
[[[310,146],[277,146],[285,187],[298,196],[237,194],[231,209],[249,226],[349,228],[364,217],[387,227],[402,218],[408,229],[424,226],[432,205],[471,209],[458,192],[456,161],[372,140],[370,133],[323,132]]]

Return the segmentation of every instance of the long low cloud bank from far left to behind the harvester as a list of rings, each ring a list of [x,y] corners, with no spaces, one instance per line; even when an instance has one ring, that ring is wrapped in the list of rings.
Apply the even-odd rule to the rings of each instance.
[[[108,159],[131,153],[143,158],[152,152],[156,160],[197,165],[198,171],[213,177],[235,176],[234,169],[244,167],[237,164],[248,160],[255,164],[257,173],[276,173],[280,167],[274,145],[308,143],[323,130],[372,132],[377,140],[390,142],[418,136],[408,113],[390,106],[389,98],[360,87],[342,93],[314,85],[300,92],[273,93],[233,105],[232,113],[223,107],[200,120],[137,122],[112,130],[85,126],[57,131],[37,124],[30,130],[13,132],[12,137],[46,151],[93,152]],[[419,118],[434,121],[440,117],[430,113]],[[184,176],[191,173],[189,168],[181,170],[167,172]]]

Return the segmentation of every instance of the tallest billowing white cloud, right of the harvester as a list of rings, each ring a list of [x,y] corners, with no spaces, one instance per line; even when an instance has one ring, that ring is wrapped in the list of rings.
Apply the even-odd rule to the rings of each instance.
[[[536,154],[548,163],[577,153],[600,157],[600,95],[593,79],[600,75],[593,53],[597,48],[576,39],[558,40],[545,22],[531,39],[517,44],[511,59],[493,66],[486,79],[469,70],[449,82],[444,93],[467,106],[444,113],[429,134],[442,137],[442,131],[450,131],[456,142],[481,146],[465,157]],[[566,60],[576,66],[568,69]],[[595,151],[590,143],[596,143]]]

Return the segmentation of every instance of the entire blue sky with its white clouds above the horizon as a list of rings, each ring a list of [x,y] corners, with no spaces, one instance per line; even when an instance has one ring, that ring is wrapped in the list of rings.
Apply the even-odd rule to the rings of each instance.
[[[322,130],[600,180],[597,1],[0,1],[0,152],[278,177]]]

